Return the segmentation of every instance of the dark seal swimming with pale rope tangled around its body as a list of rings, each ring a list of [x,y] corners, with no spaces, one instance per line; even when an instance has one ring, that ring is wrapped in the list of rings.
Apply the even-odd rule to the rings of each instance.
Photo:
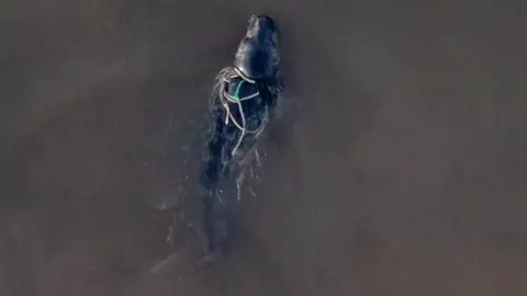
[[[211,128],[200,183],[209,250],[229,237],[227,183],[235,182],[255,152],[280,98],[278,31],[269,16],[251,16],[234,65],[216,77],[211,98]]]

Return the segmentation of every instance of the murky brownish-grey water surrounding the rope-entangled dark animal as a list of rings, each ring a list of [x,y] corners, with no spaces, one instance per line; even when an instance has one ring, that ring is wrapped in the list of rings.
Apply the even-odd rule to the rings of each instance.
[[[527,293],[523,2],[2,7],[0,295]],[[206,272],[158,208],[254,12],[288,101]]]

